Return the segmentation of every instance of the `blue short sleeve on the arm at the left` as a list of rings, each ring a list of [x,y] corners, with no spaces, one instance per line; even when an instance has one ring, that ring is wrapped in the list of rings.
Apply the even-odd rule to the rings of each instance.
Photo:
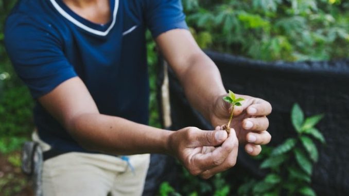
[[[49,23],[29,16],[10,15],[5,26],[5,46],[12,65],[39,98],[69,78],[77,76],[62,51],[58,33]]]

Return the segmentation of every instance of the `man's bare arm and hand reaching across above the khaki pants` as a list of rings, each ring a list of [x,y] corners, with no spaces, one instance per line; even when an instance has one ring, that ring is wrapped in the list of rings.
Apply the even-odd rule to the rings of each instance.
[[[217,127],[202,131],[188,127],[168,131],[100,114],[88,89],[78,77],[66,80],[39,98],[81,147],[106,154],[168,153],[178,157],[191,174],[208,179],[233,167],[238,140]]]

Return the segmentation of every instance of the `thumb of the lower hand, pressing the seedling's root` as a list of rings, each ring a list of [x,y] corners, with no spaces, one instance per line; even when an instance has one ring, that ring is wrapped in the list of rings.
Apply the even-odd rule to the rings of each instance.
[[[219,146],[228,138],[228,133],[223,130],[201,131],[199,134],[197,137],[199,146]]]

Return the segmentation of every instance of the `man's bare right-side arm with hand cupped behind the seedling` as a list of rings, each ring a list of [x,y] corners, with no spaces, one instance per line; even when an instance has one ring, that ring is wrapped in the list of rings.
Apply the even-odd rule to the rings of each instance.
[[[162,54],[181,82],[191,106],[198,110],[213,126],[228,123],[230,105],[223,101],[225,89],[215,63],[208,58],[188,30],[173,29],[155,39]],[[217,95],[222,95],[217,97]],[[268,102],[249,96],[242,106],[236,107],[232,128],[250,155],[260,153],[261,144],[270,141],[266,131],[271,112]],[[212,105],[212,106],[208,106]],[[250,126],[250,127],[249,127]]]

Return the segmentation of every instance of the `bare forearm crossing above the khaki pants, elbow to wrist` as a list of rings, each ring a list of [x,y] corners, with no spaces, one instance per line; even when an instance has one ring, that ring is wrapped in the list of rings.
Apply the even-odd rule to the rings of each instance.
[[[67,124],[79,144],[107,154],[167,153],[171,131],[102,114],[82,114]]]

